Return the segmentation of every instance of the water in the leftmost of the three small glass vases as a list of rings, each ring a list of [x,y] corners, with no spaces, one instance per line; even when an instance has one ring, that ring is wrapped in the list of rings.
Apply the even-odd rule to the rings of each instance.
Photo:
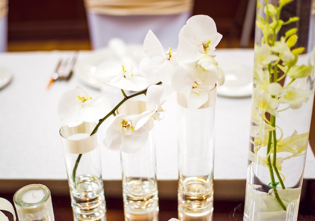
[[[71,204],[76,220],[106,221],[103,181],[91,175],[80,175],[70,188]]]

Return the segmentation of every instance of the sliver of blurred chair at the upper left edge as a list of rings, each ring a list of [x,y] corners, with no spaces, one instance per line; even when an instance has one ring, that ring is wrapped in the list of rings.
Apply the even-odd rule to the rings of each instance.
[[[8,47],[8,0],[0,0],[0,52]]]

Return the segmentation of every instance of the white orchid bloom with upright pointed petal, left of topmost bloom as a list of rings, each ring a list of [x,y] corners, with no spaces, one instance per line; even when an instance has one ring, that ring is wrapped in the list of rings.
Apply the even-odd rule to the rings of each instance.
[[[141,75],[148,78],[150,84],[163,82],[170,85],[172,73],[178,65],[176,53],[171,48],[165,51],[151,30],[145,36],[143,47],[145,57],[139,64]]]

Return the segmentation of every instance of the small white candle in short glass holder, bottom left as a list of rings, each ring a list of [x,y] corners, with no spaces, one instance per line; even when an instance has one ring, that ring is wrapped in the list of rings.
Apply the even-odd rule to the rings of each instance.
[[[42,184],[30,184],[13,197],[19,221],[54,221],[50,190]]]

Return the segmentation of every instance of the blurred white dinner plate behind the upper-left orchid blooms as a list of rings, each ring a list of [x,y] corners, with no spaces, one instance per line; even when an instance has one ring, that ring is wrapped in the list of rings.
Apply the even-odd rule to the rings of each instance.
[[[127,44],[126,53],[121,55],[121,51],[115,51],[110,47],[105,47],[93,51],[91,55],[81,57],[74,68],[74,75],[85,85],[101,89],[103,83],[97,78],[94,78],[96,68],[105,61],[128,61],[138,66],[140,60],[144,57],[143,45]]]

